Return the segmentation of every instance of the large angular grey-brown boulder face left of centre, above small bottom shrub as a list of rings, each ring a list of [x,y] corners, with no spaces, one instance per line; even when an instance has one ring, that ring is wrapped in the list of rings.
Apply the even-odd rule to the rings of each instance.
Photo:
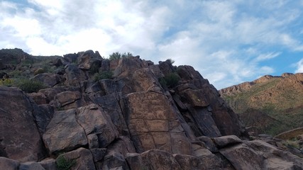
[[[50,153],[70,151],[87,145],[87,136],[76,120],[76,110],[55,112],[43,134],[43,141]]]

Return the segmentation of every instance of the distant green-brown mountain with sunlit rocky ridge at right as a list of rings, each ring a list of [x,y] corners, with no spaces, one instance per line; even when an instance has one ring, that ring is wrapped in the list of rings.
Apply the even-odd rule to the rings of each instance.
[[[303,74],[266,75],[219,91],[247,127],[277,135],[303,126]]]

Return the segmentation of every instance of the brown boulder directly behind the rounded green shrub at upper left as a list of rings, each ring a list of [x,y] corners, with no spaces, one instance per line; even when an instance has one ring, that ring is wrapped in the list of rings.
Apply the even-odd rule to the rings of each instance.
[[[61,77],[57,74],[51,74],[51,73],[42,73],[35,75],[35,77],[32,78],[35,81],[42,82],[45,86],[53,87],[56,84],[59,84],[61,81]]]

